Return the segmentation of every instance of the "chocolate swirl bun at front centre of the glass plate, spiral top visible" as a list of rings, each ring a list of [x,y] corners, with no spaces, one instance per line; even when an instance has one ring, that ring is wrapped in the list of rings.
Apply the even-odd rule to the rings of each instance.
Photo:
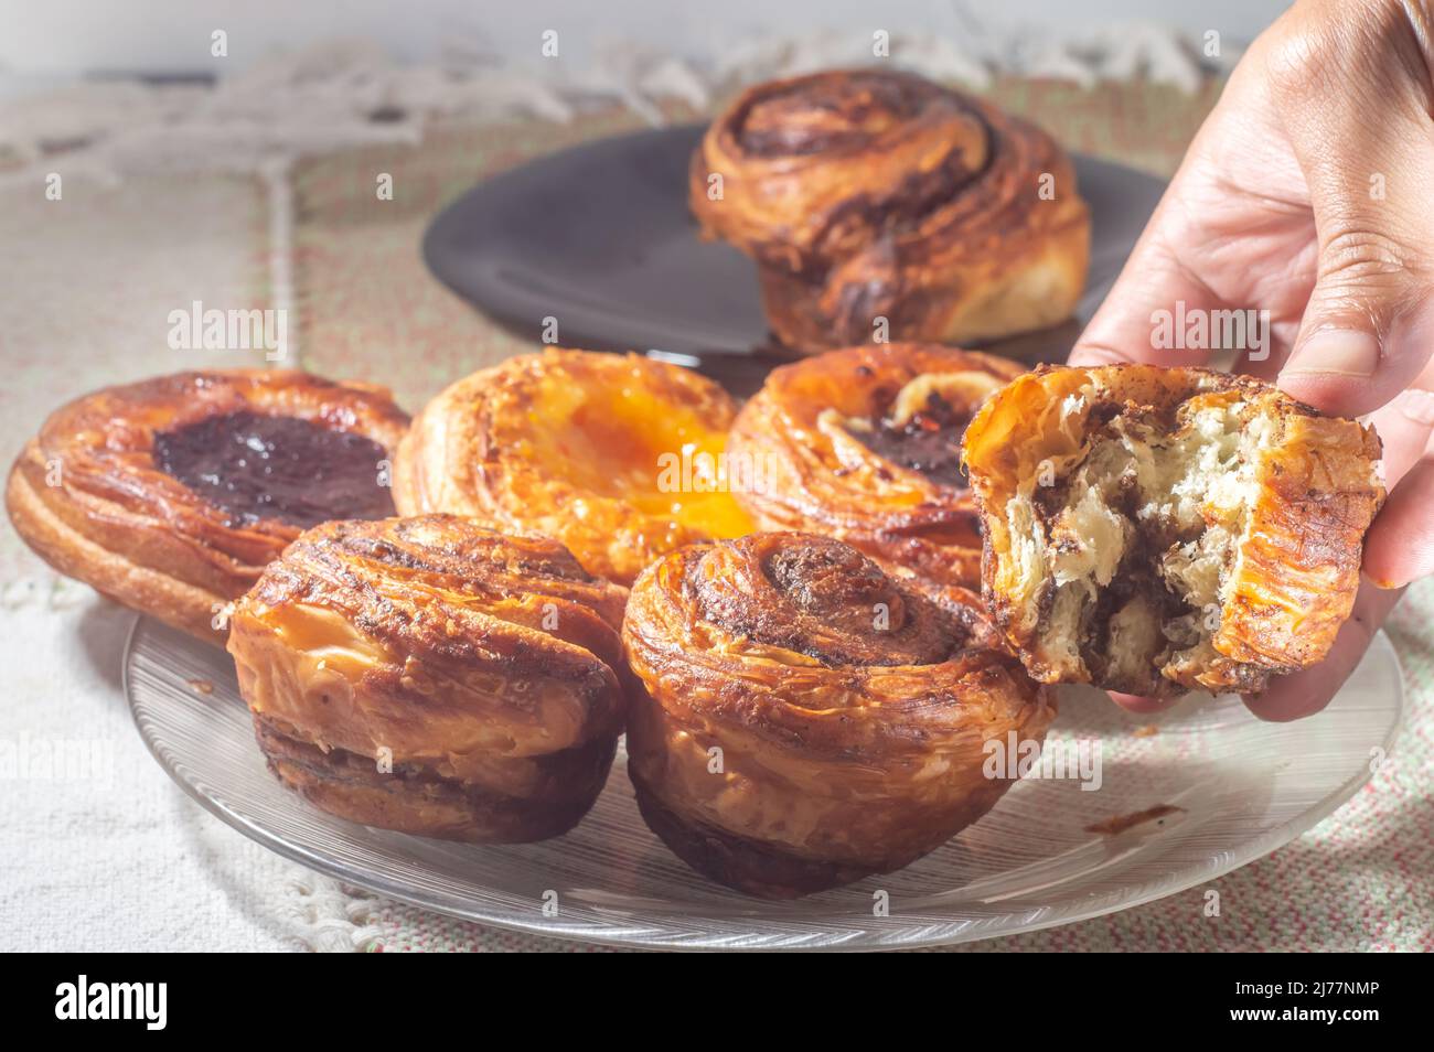
[[[985,741],[1040,741],[1054,717],[975,596],[939,606],[830,537],[674,552],[638,579],[622,638],[645,688],[628,715],[644,818],[761,897],[939,847],[1008,788]]]

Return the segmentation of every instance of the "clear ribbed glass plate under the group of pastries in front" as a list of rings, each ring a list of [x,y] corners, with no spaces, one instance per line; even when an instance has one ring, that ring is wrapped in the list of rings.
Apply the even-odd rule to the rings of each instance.
[[[1328,709],[1293,724],[1262,724],[1233,697],[1192,697],[1163,715],[1133,717],[1096,691],[1070,689],[1051,734],[1100,740],[1098,790],[1022,781],[899,873],[767,903],[698,877],[648,833],[621,750],[597,807],[572,833],[518,847],[450,844],[356,826],[284,790],[254,742],[234,666],[214,646],[139,618],[125,689],[169,775],[282,856],[485,924],[668,949],[954,943],[1173,894],[1275,850],[1354,795],[1387,755],[1402,708],[1384,635]],[[1120,833],[1093,831],[1160,805],[1180,810]]]

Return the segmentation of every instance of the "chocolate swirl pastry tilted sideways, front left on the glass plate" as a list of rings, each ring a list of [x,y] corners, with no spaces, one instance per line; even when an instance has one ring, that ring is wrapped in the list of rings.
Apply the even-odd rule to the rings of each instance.
[[[317,807],[519,843],[572,828],[607,781],[625,601],[552,540],[330,522],[235,605],[228,649],[270,768]]]

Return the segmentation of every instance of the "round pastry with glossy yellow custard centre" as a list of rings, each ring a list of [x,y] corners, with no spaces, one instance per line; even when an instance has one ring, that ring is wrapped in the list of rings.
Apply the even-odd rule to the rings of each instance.
[[[751,529],[726,480],[736,406],[635,354],[548,350],[459,380],[399,447],[400,515],[449,512],[556,537],[631,583],[664,552]]]

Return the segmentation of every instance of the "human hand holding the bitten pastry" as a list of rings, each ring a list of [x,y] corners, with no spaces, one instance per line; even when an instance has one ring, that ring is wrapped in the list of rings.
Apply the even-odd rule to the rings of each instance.
[[[1434,0],[1301,0],[1246,52],[1071,364],[1202,365],[1156,311],[1269,311],[1232,370],[1384,441],[1390,497],[1325,661],[1246,705],[1318,712],[1402,588],[1434,572]],[[1160,702],[1113,695],[1136,711]]]

